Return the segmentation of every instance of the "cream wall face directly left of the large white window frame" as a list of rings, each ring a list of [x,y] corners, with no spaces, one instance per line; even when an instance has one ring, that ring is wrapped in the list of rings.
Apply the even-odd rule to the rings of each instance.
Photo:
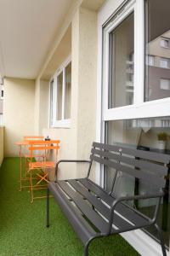
[[[97,14],[81,8],[79,19],[77,158],[87,159],[96,131]],[[82,166],[77,171],[87,173]]]

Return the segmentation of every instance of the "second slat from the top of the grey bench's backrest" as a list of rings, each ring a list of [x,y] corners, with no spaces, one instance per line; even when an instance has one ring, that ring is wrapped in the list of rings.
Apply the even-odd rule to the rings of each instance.
[[[91,153],[98,154],[99,156],[107,157],[111,160],[121,161],[128,165],[136,166],[141,168],[145,172],[152,172],[154,175],[164,176],[167,175],[167,166],[157,165],[155,163],[146,160],[137,160],[135,158],[127,157],[121,154],[113,154],[107,151],[101,151],[96,148],[92,148]]]

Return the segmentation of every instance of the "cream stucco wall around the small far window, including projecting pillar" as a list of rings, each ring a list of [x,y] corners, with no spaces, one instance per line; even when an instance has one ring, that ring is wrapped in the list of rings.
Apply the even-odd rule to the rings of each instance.
[[[48,128],[47,113],[45,113],[46,121],[44,121],[43,112],[44,109],[49,108],[47,101],[49,84],[39,79],[36,84],[35,100],[37,105],[36,131],[44,136],[60,139],[59,159],[88,159],[96,129],[96,12],[84,8],[77,10],[71,21],[71,42],[69,39],[67,44],[71,44],[71,127],[67,129]],[[62,63],[62,56],[60,62]],[[56,63],[59,64],[59,58]],[[45,102],[43,108],[42,101]],[[59,178],[85,176],[87,166],[84,164],[81,168],[79,166],[60,165]]]

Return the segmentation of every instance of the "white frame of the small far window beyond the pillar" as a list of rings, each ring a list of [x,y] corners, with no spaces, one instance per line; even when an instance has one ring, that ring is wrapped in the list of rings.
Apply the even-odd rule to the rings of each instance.
[[[52,79],[50,79],[49,83],[49,103],[50,103],[50,113],[49,113],[49,125],[52,128],[70,128],[71,127],[71,119],[65,119],[65,68],[71,63],[71,55],[66,59],[65,62],[57,69],[56,73]],[[63,84],[62,84],[62,113],[61,119],[57,119],[57,90],[58,90],[58,82],[57,78],[60,73],[63,73]],[[53,83],[53,88],[51,92],[51,82]],[[53,94],[53,105],[51,105],[51,93]],[[51,113],[51,111],[53,113]],[[51,119],[53,117],[53,119]]]

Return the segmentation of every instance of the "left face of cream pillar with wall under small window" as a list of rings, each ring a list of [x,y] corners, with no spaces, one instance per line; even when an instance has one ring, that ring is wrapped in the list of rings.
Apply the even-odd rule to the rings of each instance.
[[[79,44],[79,13],[74,16],[71,26],[71,127],[43,129],[43,134],[50,138],[60,139],[59,159],[77,159],[77,96],[78,96],[78,44]],[[60,59],[62,62],[62,58]],[[58,60],[59,63],[59,60]],[[61,63],[60,63],[61,64]],[[56,67],[57,68],[57,67]],[[77,166],[75,164],[61,164],[59,166],[59,178],[76,177]]]

